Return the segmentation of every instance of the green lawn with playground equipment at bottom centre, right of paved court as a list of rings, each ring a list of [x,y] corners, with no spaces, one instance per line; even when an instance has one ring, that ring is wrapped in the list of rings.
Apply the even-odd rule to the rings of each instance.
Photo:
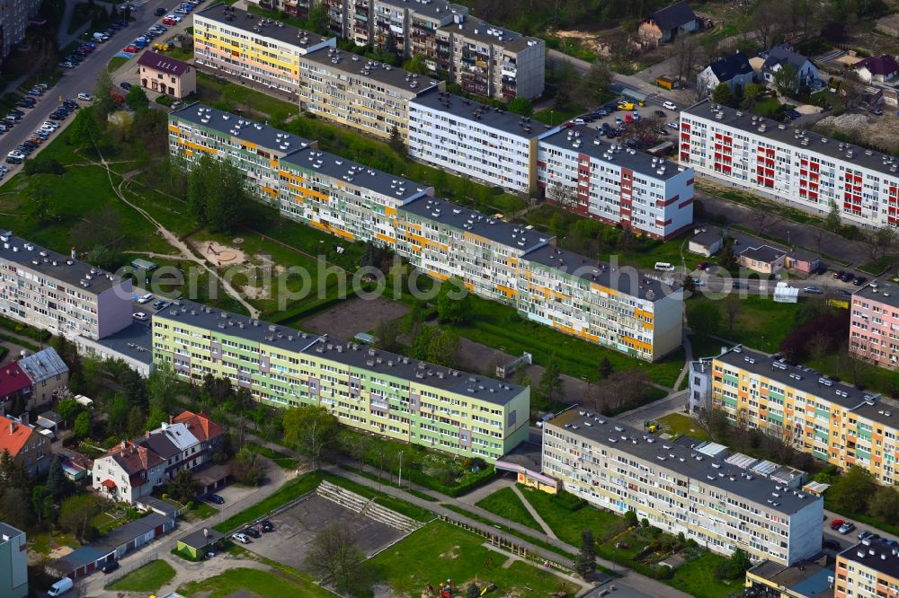
[[[396,595],[417,596],[428,584],[452,579],[457,587],[493,582],[488,595],[547,596],[562,580],[527,563],[506,558],[482,546],[484,538],[449,523],[429,523],[381,552],[369,563]],[[568,585],[569,590],[576,588]]]

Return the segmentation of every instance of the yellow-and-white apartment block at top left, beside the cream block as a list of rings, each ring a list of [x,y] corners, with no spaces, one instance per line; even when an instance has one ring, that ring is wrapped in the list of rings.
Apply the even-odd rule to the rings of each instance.
[[[336,43],[229,4],[193,15],[193,62],[199,70],[290,100],[299,97],[299,58]]]

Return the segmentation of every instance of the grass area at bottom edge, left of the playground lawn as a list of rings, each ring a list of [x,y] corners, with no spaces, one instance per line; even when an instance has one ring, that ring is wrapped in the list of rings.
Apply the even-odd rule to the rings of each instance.
[[[188,598],[223,598],[236,592],[256,595],[259,598],[320,598],[334,594],[321,589],[311,580],[299,576],[288,576],[279,571],[261,571],[259,569],[236,568],[225,573],[209,577],[199,582],[191,582],[178,588],[179,594]]]

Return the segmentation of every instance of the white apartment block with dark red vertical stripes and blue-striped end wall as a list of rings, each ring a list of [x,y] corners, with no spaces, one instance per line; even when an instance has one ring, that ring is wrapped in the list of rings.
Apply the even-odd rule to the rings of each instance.
[[[547,201],[654,239],[693,222],[691,168],[604,141],[589,127],[541,137],[537,176]]]

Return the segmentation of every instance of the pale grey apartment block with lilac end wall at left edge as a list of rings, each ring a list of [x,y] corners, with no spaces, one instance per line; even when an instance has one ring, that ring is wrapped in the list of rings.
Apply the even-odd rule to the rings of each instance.
[[[131,324],[131,281],[6,231],[0,233],[0,313],[52,334],[101,339]]]

